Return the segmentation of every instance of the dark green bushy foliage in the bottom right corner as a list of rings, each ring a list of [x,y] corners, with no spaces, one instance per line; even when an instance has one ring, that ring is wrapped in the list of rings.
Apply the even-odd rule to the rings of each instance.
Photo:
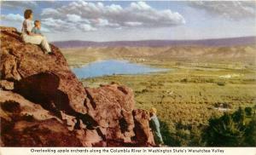
[[[222,117],[210,118],[202,140],[206,146],[256,146],[256,116],[248,123],[245,120],[241,107],[233,113],[225,112]]]

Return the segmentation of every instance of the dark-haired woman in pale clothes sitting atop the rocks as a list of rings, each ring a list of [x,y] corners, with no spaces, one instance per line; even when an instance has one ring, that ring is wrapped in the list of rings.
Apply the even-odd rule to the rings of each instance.
[[[32,10],[26,9],[24,12],[24,18],[22,25],[22,39],[25,43],[33,43],[33,44],[41,44],[43,49],[46,51],[47,54],[51,54],[51,49],[49,47],[49,43],[46,39],[46,37],[35,34],[32,32],[33,24],[32,24]]]

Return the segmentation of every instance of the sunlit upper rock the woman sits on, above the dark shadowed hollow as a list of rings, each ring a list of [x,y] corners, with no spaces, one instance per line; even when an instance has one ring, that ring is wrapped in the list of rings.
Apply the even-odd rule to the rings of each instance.
[[[42,72],[53,72],[59,78],[58,88],[68,96],[75,112],[86,113],[84,88],[73,72],[61,51],[51,46],[54,55],[45,55],[40,46],[23,43],[15,29],[1,28],[1,74],[2,79],[19,81]],[[46,84],[46,83],[45,83]]]

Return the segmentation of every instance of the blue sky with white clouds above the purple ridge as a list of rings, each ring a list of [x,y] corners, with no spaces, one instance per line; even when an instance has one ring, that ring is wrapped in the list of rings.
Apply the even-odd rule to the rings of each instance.
[[[256,36],[255,1],[2,1],[1,25],[20,30],[25,9],[49,41]]]

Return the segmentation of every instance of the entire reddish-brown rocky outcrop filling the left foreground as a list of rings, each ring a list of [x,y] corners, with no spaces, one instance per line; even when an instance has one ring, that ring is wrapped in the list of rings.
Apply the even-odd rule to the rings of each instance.
[[[154,146],[148,112],[118,84],[84,88],[53,55],[1,27],[2,146]]]

